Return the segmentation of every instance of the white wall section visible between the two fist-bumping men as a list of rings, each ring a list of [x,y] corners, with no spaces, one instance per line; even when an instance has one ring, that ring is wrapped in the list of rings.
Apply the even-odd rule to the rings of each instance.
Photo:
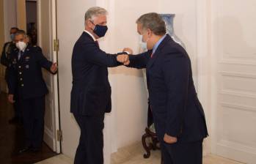
[[[139,50],[139,34],[136,29],[136,19],[146,12],[157,12],[154,1],[125,1],[114,3],[114,40],[112,44],[122,50],[131,47],[134,53]],[[136,4],[136,5],[134,5]],[[113,69],[117,78],[114,86],[117,94],[116,128],[117,148],[140,141],[147,125],[147,89],[142,70],[126,67]]]

